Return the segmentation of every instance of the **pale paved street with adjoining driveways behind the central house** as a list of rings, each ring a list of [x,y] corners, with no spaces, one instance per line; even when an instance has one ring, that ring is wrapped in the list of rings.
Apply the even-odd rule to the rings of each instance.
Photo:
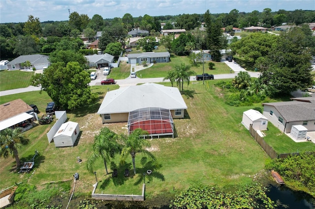
[[[240,72],[240,71],[245,71],[244,68],[242,68],[239,64],[236,62],[228,62],[224,61],[233,71],[234,73],[230,74],[220,74],[220,75],[215,75],[215,79],[225,79],[225,78],[235,78],[235,76]],[[140,75],[141,70],[137,69],[137,76]],[[36,73],[40,73],[39,71]],[[251,77],[258,78],[260,73],[259,72],[248,72]],[[98,78],[96,80],[91,80],[90,85],[100,85],[100,81],[104,78],[102,75],[102,69],[97,72]],[[106,77],[105,77],[106,78]],[[191,76],[190,80],[195,80],[195,76]],[[167,82],[169,80],[165,80]],[[127,86],[133,86],[137,85],[138,83],[149,83],[149,82],[163,82],[163,78],[126,78],[126,79],[119,79],[116,80],[117,84],[124,88]],[[40,87],[35,87],[35,86],[29,86],[26,88],[19,88],[19,89],[11,89],[11,90],[6,90],[6,91],[0,91],[0,96],[5,96],[5,95],[11,95],[11,94],[17,94],[17,93],[23,93],[23,92],[30,92],[30,91],[39,91]]]

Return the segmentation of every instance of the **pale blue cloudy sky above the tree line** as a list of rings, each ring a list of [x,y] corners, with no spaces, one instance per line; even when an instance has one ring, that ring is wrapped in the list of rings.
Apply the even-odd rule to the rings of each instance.
[[[163,16],[179,14],[262,12],[270,8],[293,11],[315,10],[315,0],[0,0],[0,23],[27,22],[32,15],[44,21],[69,20],[70,13],[98,14],[106,18],[122,18],[126,13],[132,17]]]

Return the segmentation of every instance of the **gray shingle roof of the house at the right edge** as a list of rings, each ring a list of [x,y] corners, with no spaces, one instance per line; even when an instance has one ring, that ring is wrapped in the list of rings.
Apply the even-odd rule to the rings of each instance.
[[[287,122],[315,120],[315,104],[299,101],[263,103],[274,106]]]

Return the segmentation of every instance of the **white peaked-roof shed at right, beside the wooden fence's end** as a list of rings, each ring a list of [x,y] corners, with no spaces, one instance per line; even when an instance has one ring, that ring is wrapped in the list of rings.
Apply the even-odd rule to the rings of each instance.
[[[249,109],[243,112],[242,124],[246,129],[250,129],[250,125],[252,124],[252,128],[254,130],[267,130],[268,119],[261,114],[259,111],[254,109]]]

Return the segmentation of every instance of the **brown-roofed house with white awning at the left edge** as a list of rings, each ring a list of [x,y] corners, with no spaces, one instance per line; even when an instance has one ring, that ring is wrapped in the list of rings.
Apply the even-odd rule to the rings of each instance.
[[[17,99],[0,105],[0,131],[20,127],[22,131],[32,128],[37,114],[23,100]]]

